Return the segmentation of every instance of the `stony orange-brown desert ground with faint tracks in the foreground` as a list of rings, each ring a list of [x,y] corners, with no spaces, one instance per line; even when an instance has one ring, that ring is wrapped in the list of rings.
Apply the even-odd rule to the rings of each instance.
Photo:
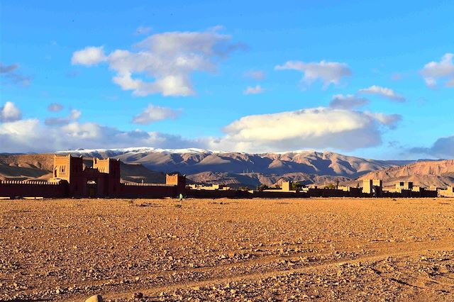
[[[0,214],[0,300],[454,301],[454,199],[13,200]]]

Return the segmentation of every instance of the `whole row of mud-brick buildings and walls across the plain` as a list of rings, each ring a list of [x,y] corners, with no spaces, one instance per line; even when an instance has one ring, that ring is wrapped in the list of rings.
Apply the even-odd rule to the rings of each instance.
[[[84,167],[82,157],[54,156],[49,181],[0,181],[0,198],[307,198],[307,197],[454,197],[448,188],[415,186],[398,181],[384,190],[381,179],[364,179],[362,186],[331,185],[324,188],[282,181],[277,188],[233,189],[220,184],[186,184],[184,175],[166,174],[165,184],[121,182],[119,160],[93,159]]]

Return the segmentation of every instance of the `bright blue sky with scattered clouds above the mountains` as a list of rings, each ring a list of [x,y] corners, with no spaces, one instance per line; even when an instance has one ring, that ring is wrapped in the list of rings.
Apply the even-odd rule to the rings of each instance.
[[[454,158],[454,1],[0,1],[0,152]]]

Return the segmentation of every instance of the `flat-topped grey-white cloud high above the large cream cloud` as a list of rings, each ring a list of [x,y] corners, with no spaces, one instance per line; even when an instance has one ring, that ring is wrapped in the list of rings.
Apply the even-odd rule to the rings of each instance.
[[[312,84],[317,79],[321,79],[326,88],[330,84],[339,84],[343,77],[352,75],[351,69],[345,63],[339,62],[310,62],[287,61],[284,65],[277,65],[277,70],[293,69],[304,73],[303,82]]]

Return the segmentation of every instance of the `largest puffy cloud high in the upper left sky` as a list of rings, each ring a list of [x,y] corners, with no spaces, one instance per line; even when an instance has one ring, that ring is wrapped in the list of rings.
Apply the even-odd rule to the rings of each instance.
[[[106,61],[116,72],[114,83],[135,96],[190,96],[195,94],[194,72],[216,72],[219,60],[243,47],[231,43],[231,35],[218,33],[218,29],[157,33],[136,44],[134,51],[114,50],[107,56],[103,47],[86,47],[74,52],[72,63],[91,66]]]

